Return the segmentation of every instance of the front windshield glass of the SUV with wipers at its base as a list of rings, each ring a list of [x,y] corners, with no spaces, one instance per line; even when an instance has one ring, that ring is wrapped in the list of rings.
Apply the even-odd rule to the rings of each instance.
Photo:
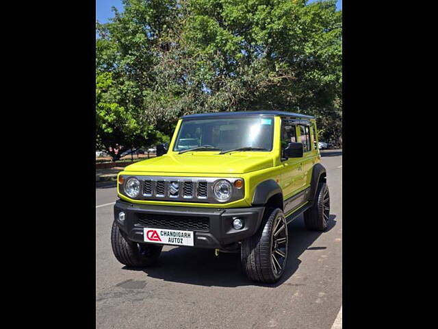
[[[227,151],[248,147],[271,151],[273,134],[272,116],[185,119],[173,150],[203,147],[199,151]]]

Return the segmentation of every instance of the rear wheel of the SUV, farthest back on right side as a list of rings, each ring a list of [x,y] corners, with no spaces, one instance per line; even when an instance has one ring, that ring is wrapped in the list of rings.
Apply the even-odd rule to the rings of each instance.
[[[330,219],[330,193],[325,182],[318,184],[315,202],[304,213],[304,222],[308,230],[325,231]]]

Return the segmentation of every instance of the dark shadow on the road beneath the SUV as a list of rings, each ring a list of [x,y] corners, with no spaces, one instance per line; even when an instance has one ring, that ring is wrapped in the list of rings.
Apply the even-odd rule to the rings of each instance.
[[[336,225],[335,217],[335,215],[330,215],[329,227],[326,232]],[[277,287],[296,272],[301,263],[301,260],[298,258],[305,250],[326,248],[325,246],[309,248],[322,233],[324,232],[307,230],[302,215],[292,221],[292,223],[289,223],[287,264],[283,276],[279,282],[274,284],[263,284],[249,280],[242,271],[240,252],[220,252],[218,256],[215,256],[214,249],[172,247],[172,249],[162,252],[153,267],[138,269],[125,266],[123,269],[144,271],[151,278],[205,287],[240,287],[250,285]]]

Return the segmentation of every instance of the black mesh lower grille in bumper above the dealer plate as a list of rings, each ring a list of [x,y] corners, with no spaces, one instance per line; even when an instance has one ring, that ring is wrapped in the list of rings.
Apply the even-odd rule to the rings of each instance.
[[[137,224],[145,228],[209,231],[208,217],[137,214]]]

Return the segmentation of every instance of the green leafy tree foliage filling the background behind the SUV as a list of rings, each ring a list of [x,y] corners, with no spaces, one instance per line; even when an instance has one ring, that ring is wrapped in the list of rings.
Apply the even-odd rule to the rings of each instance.
[[[124,0],[96,23],[97,140],[136,145],[170,136],[183,114],[234,110],[314,114],[321,140],[339,138],[335,2]]]

